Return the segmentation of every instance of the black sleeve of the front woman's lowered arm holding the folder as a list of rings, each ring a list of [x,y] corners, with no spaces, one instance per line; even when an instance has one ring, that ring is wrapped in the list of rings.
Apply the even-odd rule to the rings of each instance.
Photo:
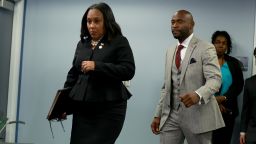
[[[80,73],[80,71],[78,71],[77,67],[75,66],[75,61],[76,61],[77,53],[78,53],[78,50],[77,50],[78,45],[77,45],[76,52],[75,52],[75,55],[74,55],[74,58],[73,58],[72,67],[68,71],[67,78],[66,78],[66,81],[64,83],[64,88],[73,87],[75,85],[75,83],[78,79],[78,75]]]

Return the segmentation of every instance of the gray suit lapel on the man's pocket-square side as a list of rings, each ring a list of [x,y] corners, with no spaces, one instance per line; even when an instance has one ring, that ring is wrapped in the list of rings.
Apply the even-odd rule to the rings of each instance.
[[[197,42],[198,42],[198,39],[193,37],[188,45],[188,48],[187,48],[187,51],[186,51],[186,54],[185,54],[185,57],[182,61],[182,64],[181,64],[181,68],[182,68],[182,71],[181,71],[181,78],[180,78],[180,82],[182,82],[183,78],[184,78],[184,75],[185,75],[185,72],[187,70],[187,67],[189,65],[189,60],[190,60],[190,57],[194,51],[194,49],[196,48],[197,46]]]

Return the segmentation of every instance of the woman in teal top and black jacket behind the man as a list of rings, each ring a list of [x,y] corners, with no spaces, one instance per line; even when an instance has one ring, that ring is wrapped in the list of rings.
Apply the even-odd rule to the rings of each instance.
[[[225,127],[213,131],[213,144],[230,144],[235,118],[238,115],[237,97],[244,85],[241,63],[230,56],[232,42],[226,31],[216,31],[212,35],[221,67],[222,85],[215,95],[219,104]]]

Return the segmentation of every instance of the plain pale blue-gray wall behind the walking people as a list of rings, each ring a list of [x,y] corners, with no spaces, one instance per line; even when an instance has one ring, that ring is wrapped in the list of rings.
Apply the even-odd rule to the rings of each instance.
[[[95,1],[94,1],[95,2]],[[233,40],[233,56],[251,54],[255,1],[247,0],[106,0],[128,38],[135,56],[136,74],[131,81],[133,97],[117,144],[155,144],[158,136],[150,123],[163,82],[166,48],[176,42],[170,31],[172,14],[188,9],[196,22],[195,34],[210,41],[215,30],[226,30]],[[81,18],[93,1],[27,0],[23,64],[21,72],[18,141],[36,144],[68,144],[71,118],[53,123],[51,138],[46,115],[56,89],[61,88],[79,40]],[[245,78],[251,75],[252,57]],[[240,98],[241,99],[241,98]],[[237,138],[236,138],[237,140]],[[235,144],[235,142],[234,142]]]

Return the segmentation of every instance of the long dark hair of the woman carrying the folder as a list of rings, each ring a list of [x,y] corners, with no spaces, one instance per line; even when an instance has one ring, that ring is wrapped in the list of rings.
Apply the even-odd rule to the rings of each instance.
[[[86,37],[91,38],[87,28],[87,15],[89,10],[91,9],[97,9],[102,13],[104,19],[104,27],[106,30],[106,36],[108,40],[111,40],[117,35],[122,35],[121,28],[115,21],[115,17],[111,8],[106,3],[98,3],[91,5],[83,15],[80,32],[80,38],[82,42],[84,42]]]

